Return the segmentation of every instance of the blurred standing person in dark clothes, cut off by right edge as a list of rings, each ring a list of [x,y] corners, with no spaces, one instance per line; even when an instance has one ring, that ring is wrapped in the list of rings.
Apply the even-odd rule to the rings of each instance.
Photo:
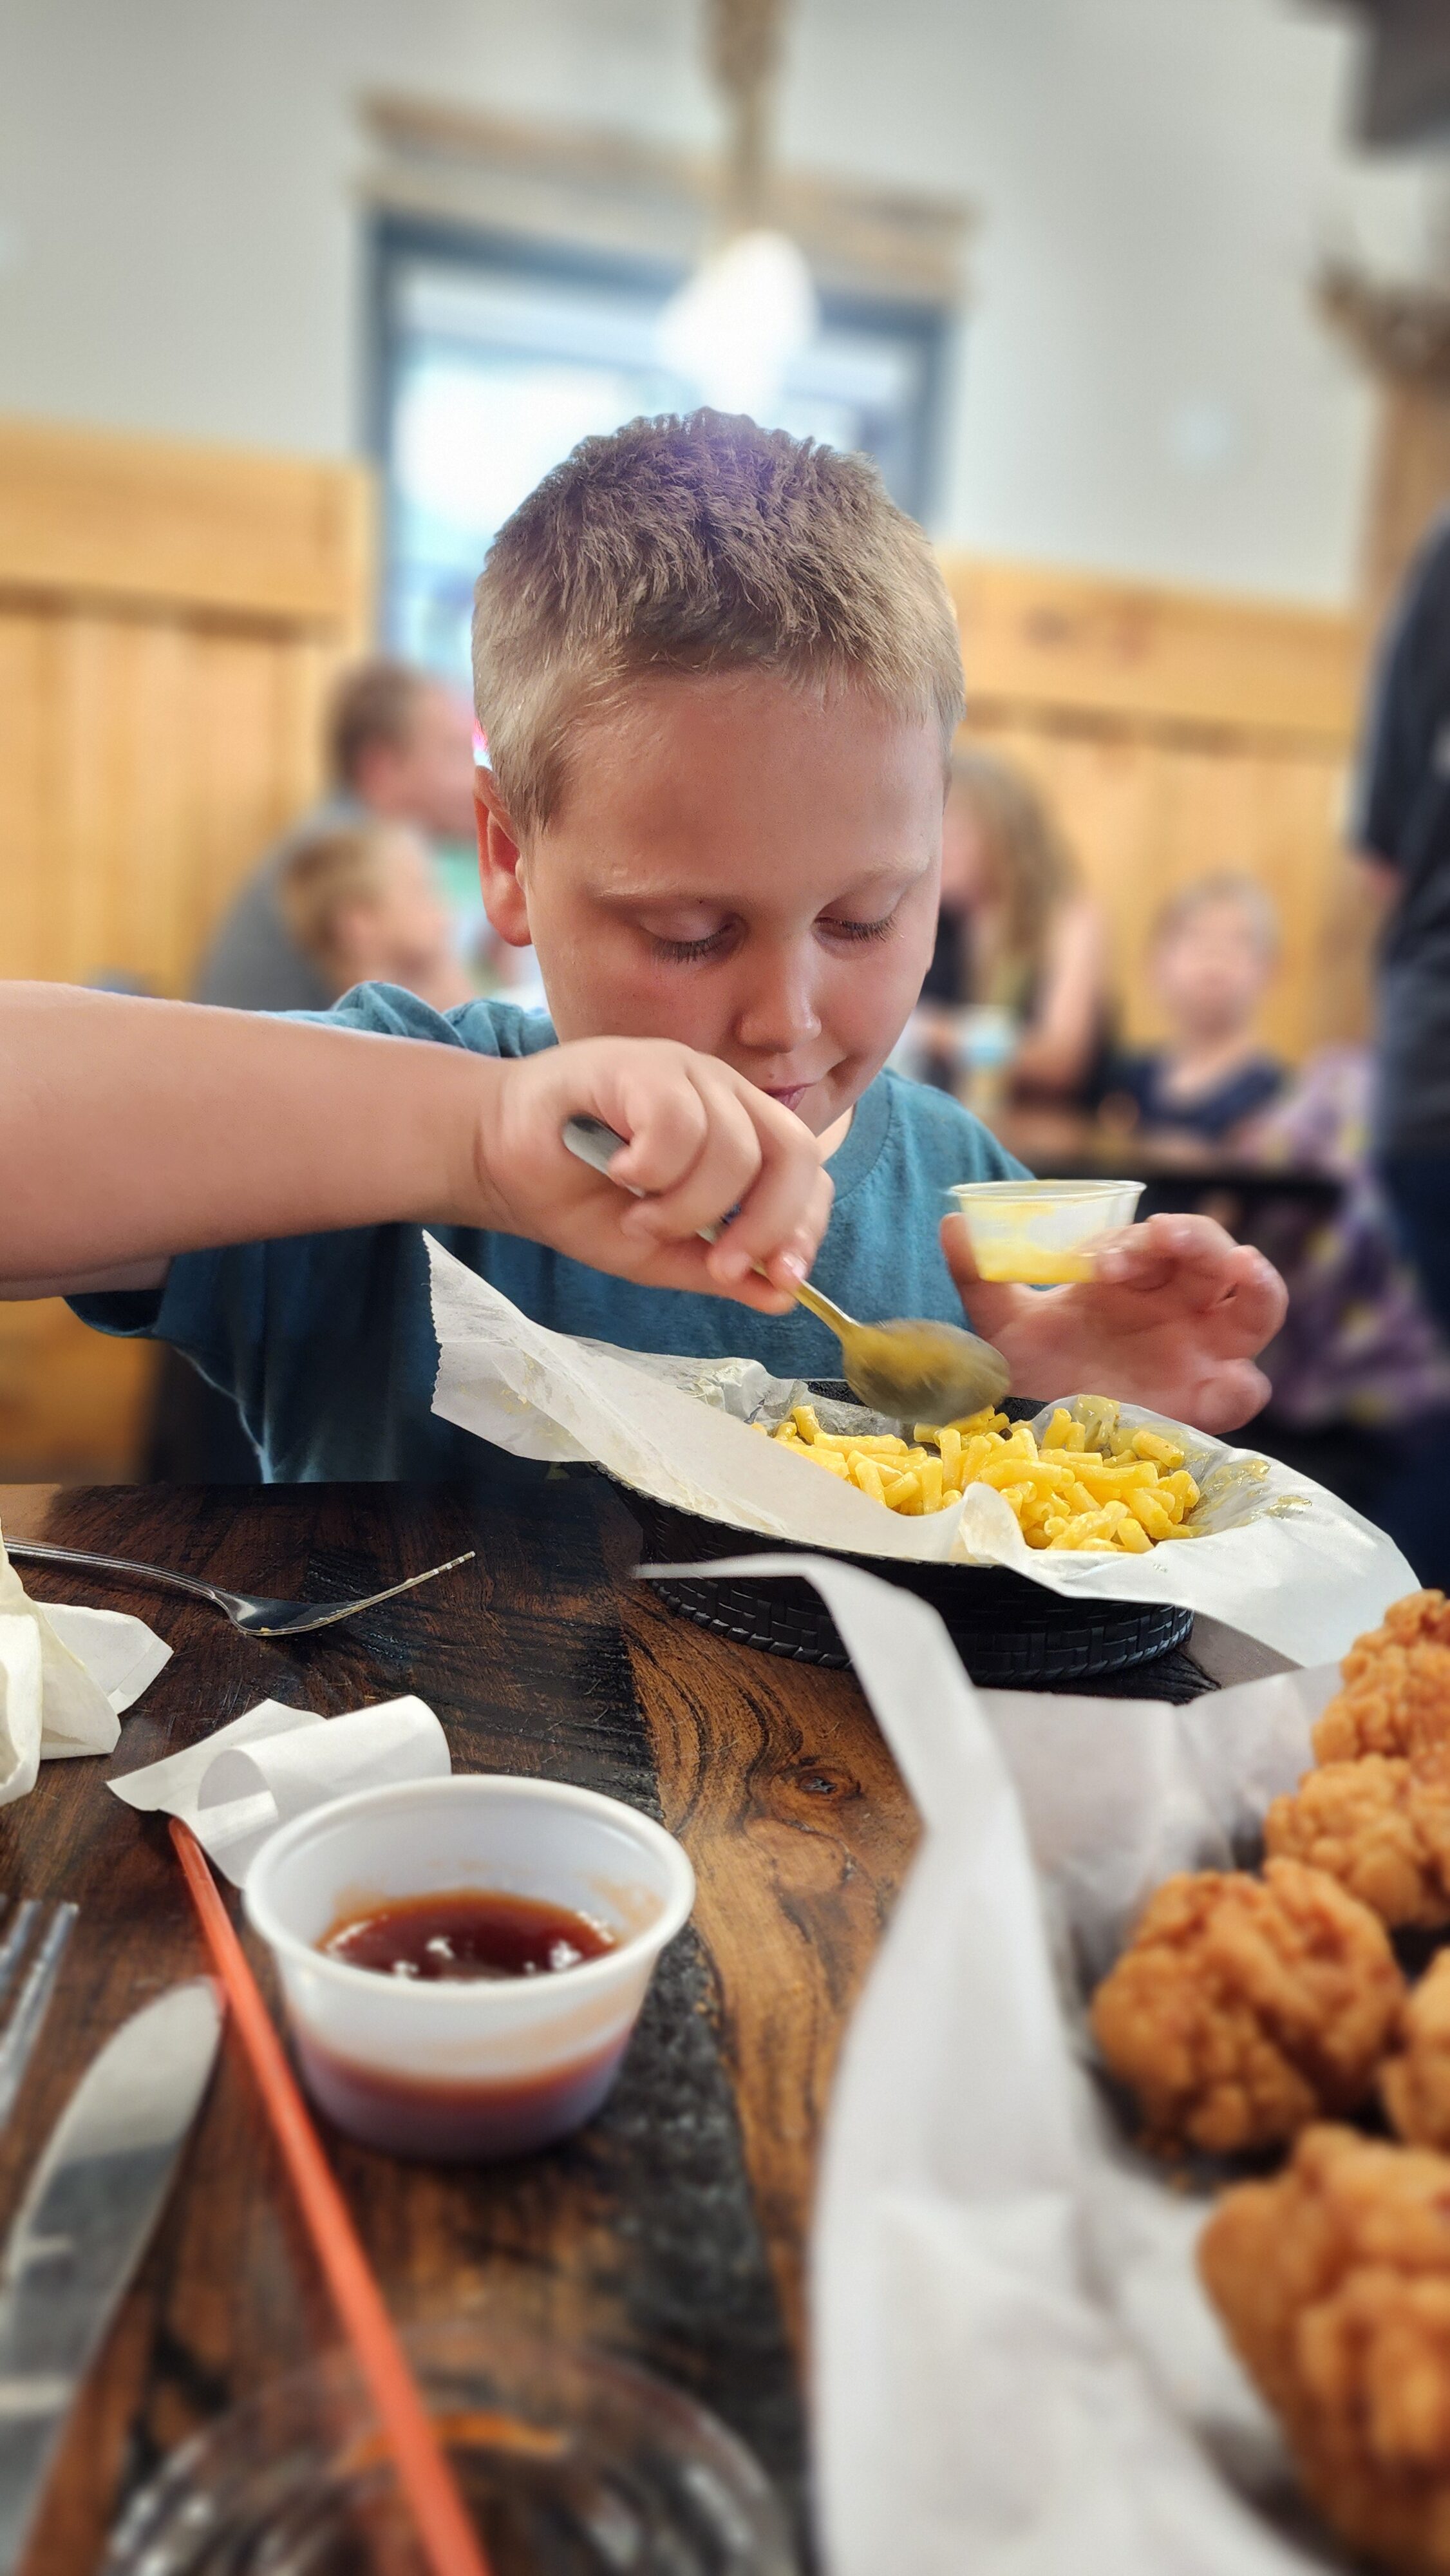
[[[1380,652],[1357,842],[1386,904],[1373,1141],[1424,1301],[1450,1337],[1450,518]]]

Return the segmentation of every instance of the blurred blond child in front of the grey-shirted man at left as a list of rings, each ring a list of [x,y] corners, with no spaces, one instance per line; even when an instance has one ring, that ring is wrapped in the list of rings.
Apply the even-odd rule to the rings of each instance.
[[[407,824],[340,824],[299,842],[278,909],[327,1002],[353,984],[402,984],[433,1010],[474,999],[428,845]]]

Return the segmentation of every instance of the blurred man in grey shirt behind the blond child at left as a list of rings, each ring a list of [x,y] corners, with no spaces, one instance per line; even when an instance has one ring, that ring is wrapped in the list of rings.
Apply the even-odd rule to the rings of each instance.
[[[332,994],[278,904],[301,840],[358,822],[412,824],[430,840],[474,840],[474,714],[407,662],[361,662],[327,719],[330,793],[258,866],[227,912],[196,984],[229,1010],[325,1010]],[[466,999],[466,994],[458,994]]]

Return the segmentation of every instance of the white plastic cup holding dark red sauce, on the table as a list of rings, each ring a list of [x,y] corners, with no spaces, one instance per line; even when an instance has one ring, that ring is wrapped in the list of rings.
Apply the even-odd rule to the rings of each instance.
[[[605,1924],[616,1947],[549,1976],[379,1976],[317,1947],[340,1917],[489,1888]],[[523,2156],[605,2099],[654,1960],[695,1901],[649,1816],[556,1780],[410,1780],[283,1824],[247,1873],[312,2099],[399,2156]]]

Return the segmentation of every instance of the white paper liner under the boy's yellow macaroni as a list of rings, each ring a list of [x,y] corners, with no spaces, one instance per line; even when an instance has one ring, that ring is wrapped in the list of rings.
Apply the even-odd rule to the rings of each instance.
[[[440,1347],[433,1412],[520,1458],[587,1458],[680,1512],[804,1548],[1012,1566],[1069,1597],[1180,1602],[1293,1664],[1344,1654],[1393,1600],[1414,1592],[1414,1571],[1393,1540],[1324,1486],[1133,1404],[1123,1406],[1123,1422],[1169,1430],[1187,1445],[1205,1486],[1203,1535],[1149,1556],[1048,1553],[1028,1548],[989,1486],[968,1486],[953,1510],[904,1520],[747,1427],[755,1414],[778,1419],[796,1381],[770,1378],[755,1360],[652,1358],[577,1342],[533,1324],[433,1239],[428,1255]]]

